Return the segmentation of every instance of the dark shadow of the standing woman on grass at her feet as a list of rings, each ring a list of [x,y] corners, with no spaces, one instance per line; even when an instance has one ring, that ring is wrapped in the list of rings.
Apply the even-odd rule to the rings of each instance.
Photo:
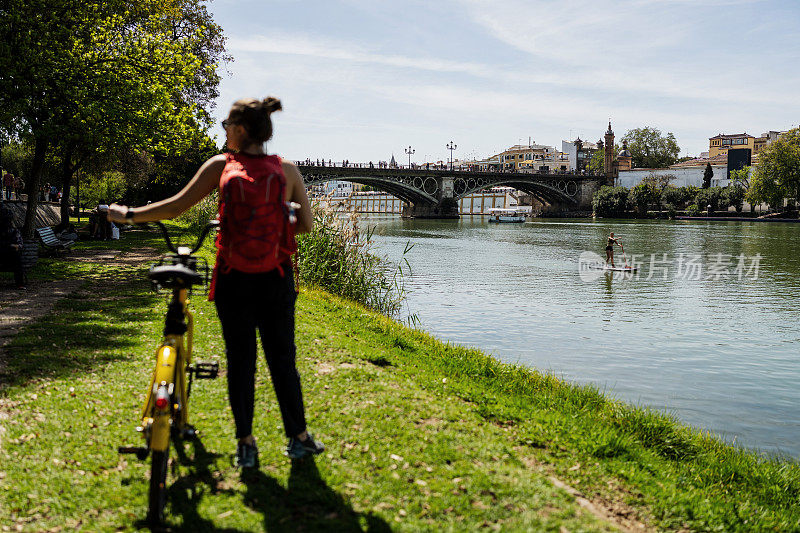
[[[372,513],[356,512],[320,477],[314,459],[292,461],[288,487],[260,470],[242,473],[245,505],[264,517],[264,531],[391,531]]]

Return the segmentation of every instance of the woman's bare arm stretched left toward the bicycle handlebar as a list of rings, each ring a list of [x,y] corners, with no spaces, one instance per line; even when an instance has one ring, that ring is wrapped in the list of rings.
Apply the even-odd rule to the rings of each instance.
[[[133,222],[175,218],[219,187],[223,168],[225,168],[225,155],[215,155],[203,163],[186,187],[175,196],[133,209]],[[126,222],[127,212],[127,206],[112,204],[108,208],[108,219],[112,222]]]

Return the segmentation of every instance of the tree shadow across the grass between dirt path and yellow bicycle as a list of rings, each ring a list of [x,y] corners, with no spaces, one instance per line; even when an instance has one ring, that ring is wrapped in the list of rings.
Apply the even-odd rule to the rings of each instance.
[[[137,282],[115,284],[112,294],[99,292],[97,299],[67,297],[49,315],[22,329],[4,348],[0,390],[127,359],[125,348],[139,344],[142,323],[153,319],[156,296],[143,292]]]

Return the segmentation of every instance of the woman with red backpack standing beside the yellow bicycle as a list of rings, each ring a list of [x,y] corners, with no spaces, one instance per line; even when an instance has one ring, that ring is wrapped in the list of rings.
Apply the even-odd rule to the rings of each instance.
[[[237,464],[253,467],[258,449],[252,434],[256,371],[256,330],[267,358],[289,443],[298,459],[324,451],[306,430],[300,375],[295,366],[294,304],[297,293],[291,255],[294,235],[313,224],[303,178],[297,167],[267,155],[270,115],[276,98],[238,100],[222,121],[229,153],[206,161],[175,196],[147,206],[109,208],[113,222],[174,218],[211,191],[219,191],[220,231],[209,299],[222,324],[228,360],[228,395],[236,424]],[[296,220],[289,202],[300,204]]]

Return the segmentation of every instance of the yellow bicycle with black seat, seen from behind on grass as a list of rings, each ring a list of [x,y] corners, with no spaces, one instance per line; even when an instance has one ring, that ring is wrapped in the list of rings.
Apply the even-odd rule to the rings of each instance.
[[[194,253],[218,223],[210,222],[193,248],[176,248],[166,227],[160,222],[156,224],[172,253],[151,266],[148,277],[155,290],[170,290],[172,296],[165,317],[164,338],[156,350],[156,367],[142,409],[142,422],[136,428],[146,445],[119,447],[120,453],[135,454],[140,460],[151,456],[147,518],[152,526],[160,525],[164,519],[170,438],[191,439],[195,436],[195,430],[188,422],[192,381],[195,378],[214,379],[219,374],[217,362],[191,364],[194,318],[188,300],[193,287],[208,285],[208,264]]]

